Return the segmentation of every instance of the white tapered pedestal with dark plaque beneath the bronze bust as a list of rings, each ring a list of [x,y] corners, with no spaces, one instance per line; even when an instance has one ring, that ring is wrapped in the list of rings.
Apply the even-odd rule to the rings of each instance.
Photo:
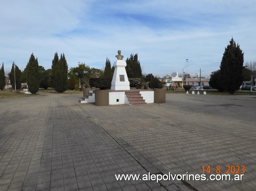
[[[114,75],[111,82],[111,90],[130,90],[130,82],[125,70],[126,61],[117,60],[114,62]]]

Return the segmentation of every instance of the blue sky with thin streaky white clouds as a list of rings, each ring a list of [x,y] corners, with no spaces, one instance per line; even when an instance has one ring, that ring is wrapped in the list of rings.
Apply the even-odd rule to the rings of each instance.
[[[188,64],[190,75],[201,68],[208,76],[232,36],[245,62],[256,59],[253,0],[1,0],[0,7],[5,71],[13,61],[23,70],[32,52],[45,69],[55,52],[64,52],[69,68],[85,62],[103,69],[121,50],[124,60],[138,53],[146,74],[182,73]]]

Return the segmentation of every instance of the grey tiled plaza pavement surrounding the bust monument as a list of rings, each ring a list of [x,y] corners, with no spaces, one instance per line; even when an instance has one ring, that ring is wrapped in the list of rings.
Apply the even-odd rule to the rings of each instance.
[[[0,191],[256,190],[256,96],[184,92],[102,107],[81,97],[0,99]],[[210,180],[224,174],[233,180]]]

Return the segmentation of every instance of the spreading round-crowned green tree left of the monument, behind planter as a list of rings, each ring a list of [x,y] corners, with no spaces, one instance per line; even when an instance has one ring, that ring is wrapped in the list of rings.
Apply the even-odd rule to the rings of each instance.
[[[90,88],[90,77],[99,77],[103,75],[103,71],[97,68],[90,68],[85,63],[78,64],[78,67],[71,67],[68,76],[73,78],[80,78],[81,83],[85,88]]]

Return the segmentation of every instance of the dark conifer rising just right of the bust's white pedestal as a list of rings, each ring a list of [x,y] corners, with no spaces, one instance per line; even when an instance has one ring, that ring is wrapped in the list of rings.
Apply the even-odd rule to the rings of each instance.
[[[131,54],[130,58],[126,59],[126,72],[128,78],[142,78],[142,70],[140,61],[138,60],[138,54]]]

